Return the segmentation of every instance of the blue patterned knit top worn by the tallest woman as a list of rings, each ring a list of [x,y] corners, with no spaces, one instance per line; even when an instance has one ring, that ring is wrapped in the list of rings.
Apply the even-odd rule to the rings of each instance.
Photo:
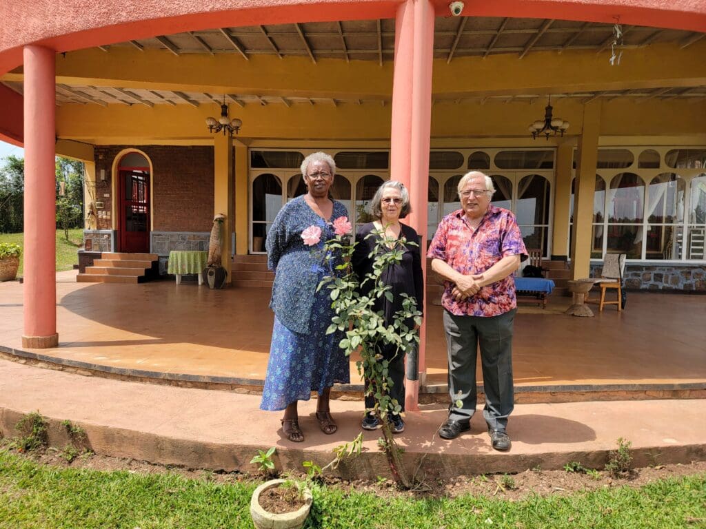
[[[329,220],[347,216],[346,207],[334,200]],[[304,197],[299,196],[280,209],[270,227],[265,243],[268,268],[275,272],[270,308],[290,331],[309,332],[314,294],[324,272],[323,253],[317,252],[316,247],[304,245],[301,232],[311,225],[319,226],[322,233],[318,248],[321,250],[323,241],[333,238],[330,221],[327,223],[314,213]]]

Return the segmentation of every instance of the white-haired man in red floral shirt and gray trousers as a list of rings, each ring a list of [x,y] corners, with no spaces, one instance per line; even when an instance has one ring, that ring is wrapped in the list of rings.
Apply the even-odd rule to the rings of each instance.
[[[480,344],[491,444],[509,450],[506,427],[513,411],[513,272],[527,258],[515,216],[491,205],[493,181],[478,171],[458,183],[461,207],[446,215],[431,241],[431,269],[443,277],[443,324],[448,344],[448,419],[443,439],[470,430],[476,410],[476,358]]]

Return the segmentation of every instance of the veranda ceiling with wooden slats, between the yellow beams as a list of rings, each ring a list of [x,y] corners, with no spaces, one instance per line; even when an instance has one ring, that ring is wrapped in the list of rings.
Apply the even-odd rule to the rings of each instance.
[[[626,55],[632,50],[649,49],[659,44],[677,47],[687,57],[692,52],[692,45],[698,43],[706,34],[699,32],[647,28],[623,25],[621,50]],[[603,23],[576,22],[568,20],[543,20],[527,18],[493,17],[448,17],[436,18],[434,32],[434,57],[446,64],[453,64],[464,57],[486,59],[489,56],[505,55],[513,57],[517,66],[523,59],[534,54],[550,52],[558,60],[567,60],[571,54],[594,52],[609,60],[611,43],[614,41],[614,26]],[[193,56],[224,57],[237,56],[240,61],[257,62],[258,57],[269,56],[299,58],[311,61],[315,67],[323,67],[322,62],[329,59],[351,61],[373,61],[381,68],[389,68],[393,60],[395,42],[395,20],[354,20],[333,23],[296,23],[282,25],[261,25],[246,28],[215,28],[174,35],[157,35],[149,39],[132,40],[109,46],[102,46],[100,53],[104,60],[133,53],[134,59],[150,53],[168,54],[172,59]],[[701,43],[700,43],[701,44]],[[698,45],[697,45],[698,47]],[[76,52],[80,53],[80,52]],[[644,51],[642,51],[644,53]],[[68,54],[71,56],[71,53]],[[644,58],[644,57],[643,57]],[[659,68],[659,61],[654,62]],[[700,68],[695,63],[694,68]],[[621,66],[614,66],[621,68]],[[702,75],[698,73],[698,75]],[[695,75],[697,76],[697,75]],[[18,93],[23,92],[21,73],[10,73],[2,78],[2,83]],[[518,83],[520,81],[518,80]],[[686,99],[703,101],[706,98],[706,85],[703,83],[679,83],[650,87],[620,87],[606,90],[565,90],[552,94],[554,100],[573,98],[580,102],[593,99],[611,100],[633,98],[638,101],[650,99]],[[521,86],[521,84],[520,84]],[[215,88],[215,87],[214,87]],[[56,87],[56,102],[62,104],[96,104],[107,107],[119,105],[167,105],[177,107],[187,105],[198,107],[201,104],[220,104],[225,101],[244,107],[246,104],[261,106],[281,104],[291,107],[295,104],[382,104],[390,97],[371,94],[366,97],[358,93],[347,97],[334,95],[320,97],[301,93],[280,92],[273,95],[268,90],[249,90],[247,93],[227,93],[220,91],[160,90],[136,86],[136,83],[81,83],[71,80]],[[484,104],[487,101],[529,102],[544,99],[546,93],[538,90],[513,90],[512,94],[493,93],[435,93],[435,102],[474,101]]]

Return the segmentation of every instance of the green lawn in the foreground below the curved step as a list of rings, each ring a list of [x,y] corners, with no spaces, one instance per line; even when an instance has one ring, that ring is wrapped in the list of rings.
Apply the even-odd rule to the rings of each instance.
[[[0,450],[1,529],[252,528],[256,484],[39,465]],[[566,496],[507,501],[384,498],[314,491],[307,527],[344,529],[702,528],[706,475]]]

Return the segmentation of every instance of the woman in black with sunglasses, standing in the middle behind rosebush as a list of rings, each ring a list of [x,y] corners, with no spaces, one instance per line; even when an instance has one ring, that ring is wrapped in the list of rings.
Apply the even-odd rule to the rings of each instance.
[[[383,271],[381,279],[385,285],[392,287],[393,301],[388,301],[385,296],[378,298],[375,310],[382,310],[385,315],[385,324],[392,324],[393,316],[397,310],[402,309],[401,293],[414,296],[417,300],[417,309],[422,310],[424,301],[424,278],[421,274],[421,249],[419,248],[419,235],[413,228],[406,224],[401,224],[400,219],[407,217],[411,211],[409,207],[409,193],[402,183],[391,180],[383,183],[377,190],[371,202],[371,212],[376,221],[360,226],[356,234],[357,245],[354,250],[352,264],[353,269],[360,281],[364,281],[366,274],[373,270],[373,257],[369,257],[373,249],[384,232],[385,239],[396,241],[404,238],[405,241],[413,242],[405,244],[402,254],[402,261],[390,265]],[[378,231],[379,235],[369,236],[371,232]],[[393,246],[390,243],[389,247]],[[385,248],[385,243],[381,246]],[[368,293],[373,285],[368,281],[363,288],[364,293]],[[409,322],[410,327],[413,322]],[[390,388],[390,397],[396,399],[397,403],[405,411],[405,354],[396,351],[394,346],[386,346],[382,351],[383,357],[390,361],[389,376],[393,380],[393,387]],[[366,387],[369,380],[365,381]],[[370,410],[375,406],[372,395],[366,396],[365,407],[367,413],[363,418],[362,427],[365,430],[375,430],[378,427],[378,418]],[[401,415],[388,415],[390,426],[394,433],[405,430],[405,422]]]

